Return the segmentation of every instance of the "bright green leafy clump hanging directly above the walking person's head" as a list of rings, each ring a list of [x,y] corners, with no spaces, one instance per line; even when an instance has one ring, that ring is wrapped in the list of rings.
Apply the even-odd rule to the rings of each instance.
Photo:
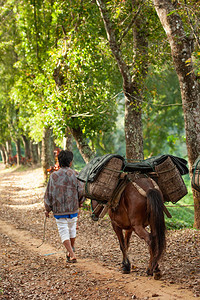
[[[73,46],[73,47],[72,47]],[[81,127],[90,138],[101,132],[112,130],[116,116],[116,103],[112,99],[114,85],[108,80],[111,69],[109,57],[102,59],[99,44],[90,43],[85,48],[73,43],[59,63],[63,74],[63,84],[51,95],[53,107],[57,111],[53,116],[59,131],[60,116],[69,127]],[[54,55],[57,60],[59,53]],[[52,114],[52,108],[51,114]],[[56,116],[59,119],[56,120]],[[61,129],[65,129],[60,127]]]

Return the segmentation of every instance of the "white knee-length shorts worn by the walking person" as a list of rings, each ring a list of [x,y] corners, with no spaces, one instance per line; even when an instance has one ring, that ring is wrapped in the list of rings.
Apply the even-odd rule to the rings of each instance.
[[[76,237],[76,223],[77,217],[72,219],[69,218],[60,218],[56,219],[56,224],[58,227],[58,232],[62,243],[66,240]]]

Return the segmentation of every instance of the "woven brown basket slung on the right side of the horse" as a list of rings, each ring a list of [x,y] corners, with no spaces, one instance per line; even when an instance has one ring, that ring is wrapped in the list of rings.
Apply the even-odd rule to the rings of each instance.
[[[155,167],[158,174],[157,183],[166,202],[176,203],[187,194],[187,188],[171,158]]]

